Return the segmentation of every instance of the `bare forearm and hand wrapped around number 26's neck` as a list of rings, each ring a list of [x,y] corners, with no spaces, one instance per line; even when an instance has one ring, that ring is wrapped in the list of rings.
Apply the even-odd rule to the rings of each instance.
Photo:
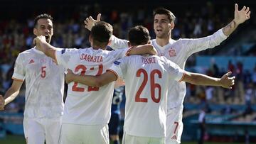
[[[127,55],[157,55],[157,51],[151,44],[134,46]]]

